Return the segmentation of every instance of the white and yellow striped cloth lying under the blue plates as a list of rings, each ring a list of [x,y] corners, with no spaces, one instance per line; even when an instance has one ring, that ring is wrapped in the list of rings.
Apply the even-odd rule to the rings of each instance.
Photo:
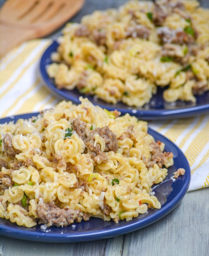
[[[36,39],[23,43],[0,61],[0,118],[53,107],[59,99],[40,82],[41,54],[51,43]],[[209,186],[209,114],[184,120],[148,122],[186,155],[191,166],[189,191]]]

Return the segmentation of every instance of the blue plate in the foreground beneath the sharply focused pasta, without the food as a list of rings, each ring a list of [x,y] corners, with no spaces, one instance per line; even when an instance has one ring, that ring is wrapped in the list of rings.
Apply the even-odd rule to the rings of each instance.
[[[31,113],[17,115],[13,118],[3,118],[0,120],[0,123],[12,120],[15,122],[18,118],[30,118],[37,114],[38,113]],[[0,218],[0,234],[39,242],[83,242],[110,238],[136,231],[164,217],[172,211],[185,196],[190,182],[190,168],[184,154],[175,144],[152,129],[149,129],[148,132],[155,138],[155,140],[164,142],[165,151],[173,152],[174,155],[174,165],[168,168],[168,176],[162,183],[156,185],[153,189],[155,195],[162,204],[161,209],[149,209],[148,213],[139,214],[137,218],[133,218],[128,222],[121,220],[118,224],[114,223],[114,221],[103,221],[98,218],[90,218],[88,221],[75,223],[75,226],[70,225],[63,228],[50,227],[46,230],[42,230],[40,225],[26,228]],[[173,172],[180,167],[186,170],[185,174],[179,176],[175,181],[172,181],[170,177],[173,176]]]

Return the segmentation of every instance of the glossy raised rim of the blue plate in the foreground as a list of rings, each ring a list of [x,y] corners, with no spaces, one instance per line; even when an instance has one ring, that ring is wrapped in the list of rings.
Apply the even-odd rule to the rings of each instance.
[[[19,118],[30,118],[32,116],[37,116],[39,112],[31,112],[26,114],[19,114],[14,115],[6,118],[0,119],[0,124],[9,122],[9,121],[16,121]],[[93,240],[99,240],[99,239],[107,239],[118,235],[123,235],[126,233],[130,233],[133,231],[136,231],[138,229],[144,228],[150,224],[153,224],[154,222],[160,220],[165,215],[167,215],[169,212],[171,212],[173,209],[176,208],[176,206],[180,203],[180,201],[185,196],[188,188],[189,183],[191,180],[191,170],[188,163],[188,160],[186,159],[184,153],[181,151],[181,149],[172,141],[170,141],[167,137],[163,136],[162,134],[158,133],[157,131],[151,129],[148,127],[148,133],[152,135],[155,140],[161,140],[165,143],[165,150],[168,151],[169,148],[175,149],[177,151],[177,156],[184,159],[184,168],[186,169],[186,176],[185,181],[183,182],[183,186],[178,191],[177,195],[172,198],[170,202],[167,203],[167,201],[162,205],[161,209],[157,209],[153,214],[147,215],[144,218],[138,219],[136,218],[136,221],[132,222],[125,222],[125,225],[113,227],[111,229],[104,230],[101,229],[99,231],[87,231],[85,233],[75,233],[75,235],[72,235],[71,233],[50,233],[50,232],[42,232],[42,231],[33,231],[33,228],[27,228],[27,230],[18,229],[19,226],[17,226],[15,223],[10,223],[11,225],[14,225],[13,227],[8,227],[6,225],[2,225],[0,223],[0,235],[9,236],[12,238],[22,239],[22,240],[28,240],[28,241],[38,241],[38,242],[57,242],[57,243],[64,243],[64,242],[84,242],[84,241],[93,241]],[[168,148],[168,150],[167,150]],[[170,150],[171,150],[170,149]],[[175,157],[175,158],[176,158]],[[174,160],[175,160],[174,158]],[[175,164],[175,162],[174,162]],[[177,167],[176,167],[177,168]],[[178,179],[176,180],[178,181]],[[172,185],[175,185],[175,182],[172,183]],[[160,185],[159,185],[160,186]],[[175,187],[175,186],[174,186]],[[172,192],[171,192],[172,193]],[[168,200],[168,199],[167,199]],[[5,219],[2,219],[3,221]],[[91,221],[94,219],[92,218]],[[134,218],[133,218],[134,220]],[[5,220],[6,221],[6,220]],[[79,223],[78,223],[79,224]],[[78,225],[76,224],[76,225]]]

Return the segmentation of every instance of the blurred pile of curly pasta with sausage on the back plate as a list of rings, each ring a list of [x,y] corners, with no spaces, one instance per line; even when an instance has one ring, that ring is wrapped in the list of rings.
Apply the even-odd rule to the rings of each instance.
[[[209,90],[209,10],[196,0],[128,1],[68,23],[47,67],[59,89],[141,107]]]

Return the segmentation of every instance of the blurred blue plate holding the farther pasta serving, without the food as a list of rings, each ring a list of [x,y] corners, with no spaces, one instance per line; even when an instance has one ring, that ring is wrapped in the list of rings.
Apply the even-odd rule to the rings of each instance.
[[[158,87],[156,95],[152,97],[149,104],[146,104],[144,107],[128,107],[121,102],[110,104],[101,99],[95,99],[95,97],[91,95],[82,95],[77,89],[71,91],[57,89],[54,80],[48,76],[46,71],[46,67],[52,63],[51,54],[56,51],[57,46],[58,43],[54,41],[42,55],[39,65],[39,74],[42,84],[61,99],[70,100],[73,101],[73,103],[79,104],[80,96],[87,97],[94,105],[99,105],[110,111],[117,109],[121,111],[122,115],[129,113],[130,115],[138,116],[141,120],[188,118],[209,111],[209,91],[204,93],[204,95],[196,96],[196,103],[179,100],[174,104],[170,104],[163,100],[163,89]]]

